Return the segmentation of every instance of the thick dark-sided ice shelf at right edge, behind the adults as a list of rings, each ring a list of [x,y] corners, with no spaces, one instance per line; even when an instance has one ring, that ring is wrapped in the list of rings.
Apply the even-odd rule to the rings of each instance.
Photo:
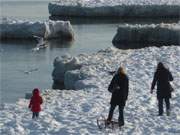
[[[148,44],[180,45],[180,24],[120,25],[113,38],[113,44],[122,48],[125,43],[144,43],[126,48],[142,48]],[[144,46],[143,46],[144,45]]]

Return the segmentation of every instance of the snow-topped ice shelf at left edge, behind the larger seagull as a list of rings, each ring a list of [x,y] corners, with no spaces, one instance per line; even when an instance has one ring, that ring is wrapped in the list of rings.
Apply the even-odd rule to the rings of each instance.
[[[32,22],[9,18],[0,21],[1,39],[32,39],[34,36],[45,39],[72,39],[74,34],[69,21]]]

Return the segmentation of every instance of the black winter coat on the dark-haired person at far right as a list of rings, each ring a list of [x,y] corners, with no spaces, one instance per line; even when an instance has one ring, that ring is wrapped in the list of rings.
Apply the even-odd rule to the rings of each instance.
[[[157,98],[171,98],[172,87],[169,81],[173,81],[172,74],[168,69],[163,68],[155,72],[151,89],[157,83]]]

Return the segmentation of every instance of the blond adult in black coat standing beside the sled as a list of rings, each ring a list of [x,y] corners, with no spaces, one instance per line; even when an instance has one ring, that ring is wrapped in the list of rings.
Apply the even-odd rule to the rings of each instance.
[[[119,126],[124,125],[124,107],[126,104],[126,100],[128,98],[128,91],[129,91],[129,79],[127,75],[124,73],[122,67],[118,69],[118,72],[114,75],[108,91],[112,93],[111,96],[111,107],[109,111],[109,115],[107,118],[107,122],[110,122],[113,117],[113,112],[116,106],[119,106]]]

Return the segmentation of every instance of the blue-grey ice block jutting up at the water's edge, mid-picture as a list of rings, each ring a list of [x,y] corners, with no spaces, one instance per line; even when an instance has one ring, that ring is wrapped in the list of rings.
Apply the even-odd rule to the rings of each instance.
[[[72,70],[80,69],[81,64],[79,60],[70,55],[56,57],[54,60],[54,70],[52,72],[53,88],[54,89],[73,89],[74,84],[78,76],[76,72],[70,72]],[[65,79],[66,76],[66,79]]]

